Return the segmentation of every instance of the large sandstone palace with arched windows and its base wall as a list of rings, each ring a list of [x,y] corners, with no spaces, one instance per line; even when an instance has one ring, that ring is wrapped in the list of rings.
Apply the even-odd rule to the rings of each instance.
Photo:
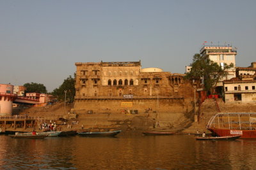
[[[184,74],[141,69],[140,61],[77,62],[76,67],[77,113],[181,113],[193,106],[193,85]]]

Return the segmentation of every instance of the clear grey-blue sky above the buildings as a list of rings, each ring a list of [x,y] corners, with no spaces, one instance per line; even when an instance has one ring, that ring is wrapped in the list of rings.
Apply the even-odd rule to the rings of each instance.
[[[0,83],[43,83],[48,92],[75,62],[139,61],[184,73],[206,45],[237,47],[256,61],[256,1],[0,0]]]

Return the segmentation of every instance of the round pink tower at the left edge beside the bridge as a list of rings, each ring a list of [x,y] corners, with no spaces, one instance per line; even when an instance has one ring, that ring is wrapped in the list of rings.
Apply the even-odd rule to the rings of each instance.
[[[0,116],[12,116],[13,85],[0,84]]]

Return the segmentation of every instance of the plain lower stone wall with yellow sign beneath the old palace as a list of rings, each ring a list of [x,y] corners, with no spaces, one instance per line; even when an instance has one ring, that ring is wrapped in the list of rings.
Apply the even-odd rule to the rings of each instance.
[[[76,101],[76,113],[184,113],[191,111],[192,99],[81,99]]]

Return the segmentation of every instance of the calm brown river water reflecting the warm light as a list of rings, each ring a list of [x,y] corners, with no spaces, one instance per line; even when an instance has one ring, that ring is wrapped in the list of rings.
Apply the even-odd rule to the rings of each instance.
[[[0,169],[256,169],[256,140],[195,136],[0,136]]]

